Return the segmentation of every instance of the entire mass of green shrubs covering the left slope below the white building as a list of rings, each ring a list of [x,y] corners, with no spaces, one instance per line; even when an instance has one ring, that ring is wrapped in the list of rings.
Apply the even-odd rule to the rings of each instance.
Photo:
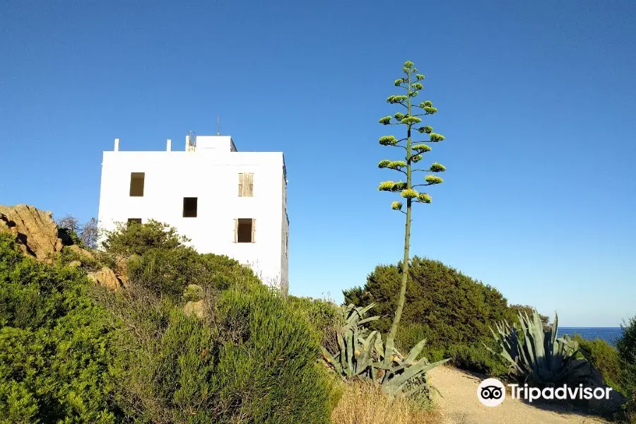
[[[338,389],[312,322],[328,320],[329,306],[285,298],[182,241],[154,222],[110,233],[102,257],[129,271],[126,290],[113,291],[71,266],[72,249],[41,264],[0,235],[0,416],[327,423]],[[195,314],[187,302],[200,303]]]

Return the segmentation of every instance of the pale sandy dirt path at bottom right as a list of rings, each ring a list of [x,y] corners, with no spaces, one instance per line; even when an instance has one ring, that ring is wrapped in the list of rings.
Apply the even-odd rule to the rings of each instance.
[[[598,424],[606,421],[584,416],[565,408],[551,410],[524,404],[507,396],[492,408],[477,399],[481,379],[452,367],[436,367],[429,372],[430,383],[444,396],[435,396],[440,413],[447,424]]]

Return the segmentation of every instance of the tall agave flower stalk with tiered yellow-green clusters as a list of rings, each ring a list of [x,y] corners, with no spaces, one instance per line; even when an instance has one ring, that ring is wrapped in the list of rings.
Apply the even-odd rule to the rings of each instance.
[[[420,102],[418,105],[414,104],[413,98],[418,95],[419,90],[422,90],[422,81],[424,76],[417,73],[418,70],[413,66],[413,62],[406,61],[404,63],[404,75],[402,78],[396,79],[395,86],[405,90],[406,94],[391,95],[387,98],[387,102],[391,105],[401,105],[406,110],[406,113],[397,112],[393,117],[383,117],[379,119],[380,124],[384,125],[404,125],[406,126],[406,138],[398,139],[395,136],[382,136],[379,139],[379,143],[382,146],[391,146],[404,149],[404,160],[381,160],[378,163],[378,167],[387,168],[401,172],[406,176],[406,182],[394,182],[385,181],[379,185],[378,189],[382,192],[399,193],[406,199],[406,212],[402,211],[404,206],[400,201],[394,201],[391,204],[391,208],[396,211],[401,211],[406,215],[406,232],[404,234],[404,261],[402,261],[402,282],[400,288],[400,295],[393,319],[389,335],[387,336],[387,355],[385,355],[386,365],[389,365],[389,358],[391,355],[389,352],[394,351],[394,340],[398,329],[398,324],[402,316],[402,310],[404,309],[405,293],[406,293],[406,281],[408,278],[408,249],[410,247],[411,238],[411,207],[414,203],[430,204],[430,196],[427,193],[420,193],[416,190],[416,187],[430,186],[433,184],[440,184],[443,180],[437,175],[426,175],[423,179],[423,184],[413,184],[413,172],[428,171],[428,172],[444,172],[446,167],[439,163],[433,163],[428,169],[413,169],[413,164],[420,162],[423,159],[423,153],[427,153],[431,150],[427,143],[437,143],[444,140],[444,136],[434,133],[432,127],[428,125],[418,126],[422,119],[420,117],[431,115],[437,112],[437,109],[432,106],[430,100]],[[420,113],[413,113],[420,112]],[[417,131],[419,134],[428,134],[428,140],[413,141],[411,139],[411,133]]]

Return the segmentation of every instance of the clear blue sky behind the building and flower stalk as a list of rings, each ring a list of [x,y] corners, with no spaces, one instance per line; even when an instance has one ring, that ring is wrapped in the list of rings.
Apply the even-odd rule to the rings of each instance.
[[[377,119],[408,59],[448,168],[413,254],[563,325],[636,314],[635,4],[402,4],[5,1],[0,204],[96,216],[115,137],[181,148],[220,113],[240,150],[285,153],[290,290],[341,300],[401,257]]]

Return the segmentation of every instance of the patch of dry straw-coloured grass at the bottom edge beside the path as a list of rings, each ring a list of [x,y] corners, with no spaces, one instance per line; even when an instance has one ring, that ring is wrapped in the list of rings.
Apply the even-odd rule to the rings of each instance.
[[[405,399],[389,399],[371,384],[346,384],[331,414],[333,424],[438,424],[440,417]]]

